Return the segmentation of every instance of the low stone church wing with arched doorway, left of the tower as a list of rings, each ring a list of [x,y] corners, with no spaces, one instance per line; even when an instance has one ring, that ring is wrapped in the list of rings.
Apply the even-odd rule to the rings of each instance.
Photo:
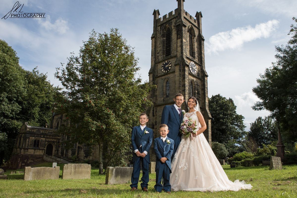
[[[98,160],[98,148],[94,146],[92,152],[86,145],[72,144],[65,148],[63,142],[69,137],[57,132],[59,126],[67,125],[69,120],[64,114],[55,114],[51,118],[48,128],[29,126],[24,123],[16,137],[10,159],[10,169],[20,169],[42,161],[64,162],[76,156],[78,160]]]

